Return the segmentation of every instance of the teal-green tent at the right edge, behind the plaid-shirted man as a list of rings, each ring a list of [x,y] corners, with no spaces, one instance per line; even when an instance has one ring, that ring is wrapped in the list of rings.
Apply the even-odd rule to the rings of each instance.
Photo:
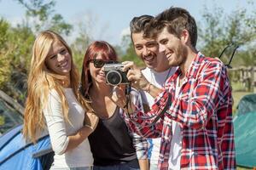
[[[256,167],[256,94],[244,96],[234,118],[236,163]]]

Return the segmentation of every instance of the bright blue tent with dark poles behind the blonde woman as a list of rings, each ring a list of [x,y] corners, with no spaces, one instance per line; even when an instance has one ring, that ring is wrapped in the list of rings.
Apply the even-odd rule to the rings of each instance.
[[[37,144],[26,143],[21,133],[22,125],[0,137],[0,170],[49,169],[53,162],[49,135],[38,139]]]

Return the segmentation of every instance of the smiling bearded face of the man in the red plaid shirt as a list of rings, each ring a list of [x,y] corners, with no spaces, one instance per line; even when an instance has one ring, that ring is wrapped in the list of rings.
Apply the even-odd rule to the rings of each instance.
[[[169,33],[165,27],[158,35],[157,42],[159,42],[160,52],[165,54],[166,59],[168,59],[168,65],[184,65],[187,59],[187,54],[183,38],[179,39],[178,37]]]

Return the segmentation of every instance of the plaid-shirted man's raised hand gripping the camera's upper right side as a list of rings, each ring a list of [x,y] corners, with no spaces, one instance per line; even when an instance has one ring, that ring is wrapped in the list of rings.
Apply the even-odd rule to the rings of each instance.
[[[124,61],[124,70],[127,72],[127,78],[131,81],[131,86],[146,91],[148,88],[148,80],[143,76],[142,71],[132,61]]]

